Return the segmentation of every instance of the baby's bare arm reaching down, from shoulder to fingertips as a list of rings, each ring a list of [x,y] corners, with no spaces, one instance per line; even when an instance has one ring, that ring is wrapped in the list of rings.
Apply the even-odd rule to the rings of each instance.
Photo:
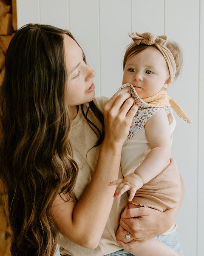
[[[136,190],[156,177],[169,163],[171,142],[166,111],[156,112],[147,121],[144,128],[151,150],[134,173],[127,175],[124,179],[108,183],[110,186],[119,185],[114,194],[115,198],[130,190],[128,200],[132,201]]]

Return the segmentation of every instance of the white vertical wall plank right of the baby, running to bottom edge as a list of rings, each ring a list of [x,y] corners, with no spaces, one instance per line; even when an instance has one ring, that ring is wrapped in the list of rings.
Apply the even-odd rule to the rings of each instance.
[[[175,8],[176,6],[176,8]],[[172,18],[173,17],[173,18]],[[166,0],[165,33],[177,41],[184,53],[183,70],[168,91],[193,120],[192,125],[177,118],[172,156],[184,179],[185,198],[178,214],[179,237],[184,255],[196,253],[197,156],[198,156],[198,43],[199,1]],[[187,221],[190,220],[190,221]],[[189,236],[189,232],[191,236]]]

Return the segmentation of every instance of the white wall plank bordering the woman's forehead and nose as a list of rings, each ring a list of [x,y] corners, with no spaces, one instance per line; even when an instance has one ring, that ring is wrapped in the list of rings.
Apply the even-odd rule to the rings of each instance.
[[[94,84],[100,91],[99,0],[70,0],[70,31],[85,52],[88,65],[96,71]]]

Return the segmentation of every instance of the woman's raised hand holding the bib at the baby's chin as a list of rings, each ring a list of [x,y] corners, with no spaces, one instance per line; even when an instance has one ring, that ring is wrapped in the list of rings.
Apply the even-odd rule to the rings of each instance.
[[[129,91],[130,87],[119,90],[103,108],[105,143],[122,145],[125,142],[133,117],[138,110]]]

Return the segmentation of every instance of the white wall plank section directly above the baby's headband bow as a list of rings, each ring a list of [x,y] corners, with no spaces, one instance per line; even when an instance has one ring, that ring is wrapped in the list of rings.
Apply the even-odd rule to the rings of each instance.
[[[164,34],[164,0],[132,0],[132,32]]]

